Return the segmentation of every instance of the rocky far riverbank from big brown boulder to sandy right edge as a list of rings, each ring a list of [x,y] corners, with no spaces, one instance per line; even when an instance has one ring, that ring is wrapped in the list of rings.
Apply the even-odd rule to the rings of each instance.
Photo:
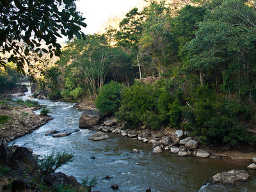
[[[97,118],[95,118],[97,116]],[[158,131],[146,129],[145,126],[140,129],[124,129],[124,124],[117,124],[114,117],[101,118],[97,111],[86,110],[79,120],[80,128],[93,127],[92,129],[99,132],[113,132],[121,134],[125,138],[132,140],[140,140],[144,143],[152,144],[152,152],[159,153],[163,150],[170,151],[178,156],[196,156],[200,158],[211,159],[227,159],[238,163],[250,164],[255,163],[253,159],[256,157],[256,147],[251,145],[239,145],[232,147],[231,145],[215,145],[206,146],[200,143],[198,138],[188,136],[188,132],[172,129],[171,127],[163,127]],[[92,120],[90,120],[92,118]],[[99,120],[95,122],[95,119]],[[100,138],[108,138],[102,133],[93,135],[93,140]]]

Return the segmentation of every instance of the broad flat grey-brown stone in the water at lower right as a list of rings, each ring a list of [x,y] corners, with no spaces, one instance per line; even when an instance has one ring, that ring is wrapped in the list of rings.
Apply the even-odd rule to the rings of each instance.
[[[209,182],[212,184],[236,185],[250,179],[250,175],[244,170],[230,170],[214,175]]]

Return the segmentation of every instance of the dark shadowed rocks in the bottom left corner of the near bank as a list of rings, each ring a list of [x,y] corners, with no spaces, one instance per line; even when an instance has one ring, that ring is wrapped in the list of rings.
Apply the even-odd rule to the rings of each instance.
[[[14,152],[12,152],[12,150]],[[0,182],[1,189],[8,190],[10,186],[4,183],[4,180],[12,182],[12,191],[43,191],[40,189],[35,180],[44,180],[47,188],[54,186],[72,186],[77,189],[83,185],[77,182],[73,176],[67,176],[64,173],[50,173],[42,175],[39,172],[39,166],[36,162],[36,156],[33,155],[31,149],[26,147],[8,147],[6,144],[0,145],[0,164],[11,168],[10,172],[0,174],[2,180]],[[24,177],[26,175],[26,177]],[[33,183],[33,184],[32,184]]]

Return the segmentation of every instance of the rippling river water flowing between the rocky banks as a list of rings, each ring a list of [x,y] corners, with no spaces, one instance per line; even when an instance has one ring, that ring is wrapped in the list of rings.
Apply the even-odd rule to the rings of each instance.
[[[24,97],[30,99],[28,92]],[[31,99],[38,100],[38,99]],[[180,157],[165,151],[152,154],[152,145],[138,140],[127,140],[120,134],[108,133],[109,139],[102,141],[88,140],[93,131],[81,129],[79,132],[63,137],[45,136],[49,130],[79,129],[78,122],[82,111],[73,108],[72,103],[38,100],[47,105],[53,112],[53,120],[43,125],[31,134],[18,138],[15,144],[33,148],[35,154],[45,156],[52,150],[74,154],[74,161],[57,170],[67,175],[73,175],[81,180],[88,176],[98,177],[94,190],[113,191],[110,187],[118,184],[117,191],[256,191],[256,171],[248,170],[248,164],[232,163],[225,160],[199,159],[196,157]],[[39,111],[35,111],[39,113]],[[140,154],[132,154],[137,148]],[[94,156],[96,159],[91,159]],[[255,155],[256,156],[256,155]],[[223,171],[244,169],[252,179],[238,186],[211,186],[207,179]],[[106,175],[109,180],[102,180]]]

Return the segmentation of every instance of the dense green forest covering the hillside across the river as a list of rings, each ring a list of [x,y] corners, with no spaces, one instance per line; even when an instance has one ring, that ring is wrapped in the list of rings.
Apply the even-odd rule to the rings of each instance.
[[[45,68],[29,78],[49,99],[95,100],[102,115],[125,127],[170,126],[203,143],[255,143],[255,1],[182,8],[151,1],[106,31],[68,40],[51,65],[45,54]],[[148,76],[159,80],[145,83]]]

